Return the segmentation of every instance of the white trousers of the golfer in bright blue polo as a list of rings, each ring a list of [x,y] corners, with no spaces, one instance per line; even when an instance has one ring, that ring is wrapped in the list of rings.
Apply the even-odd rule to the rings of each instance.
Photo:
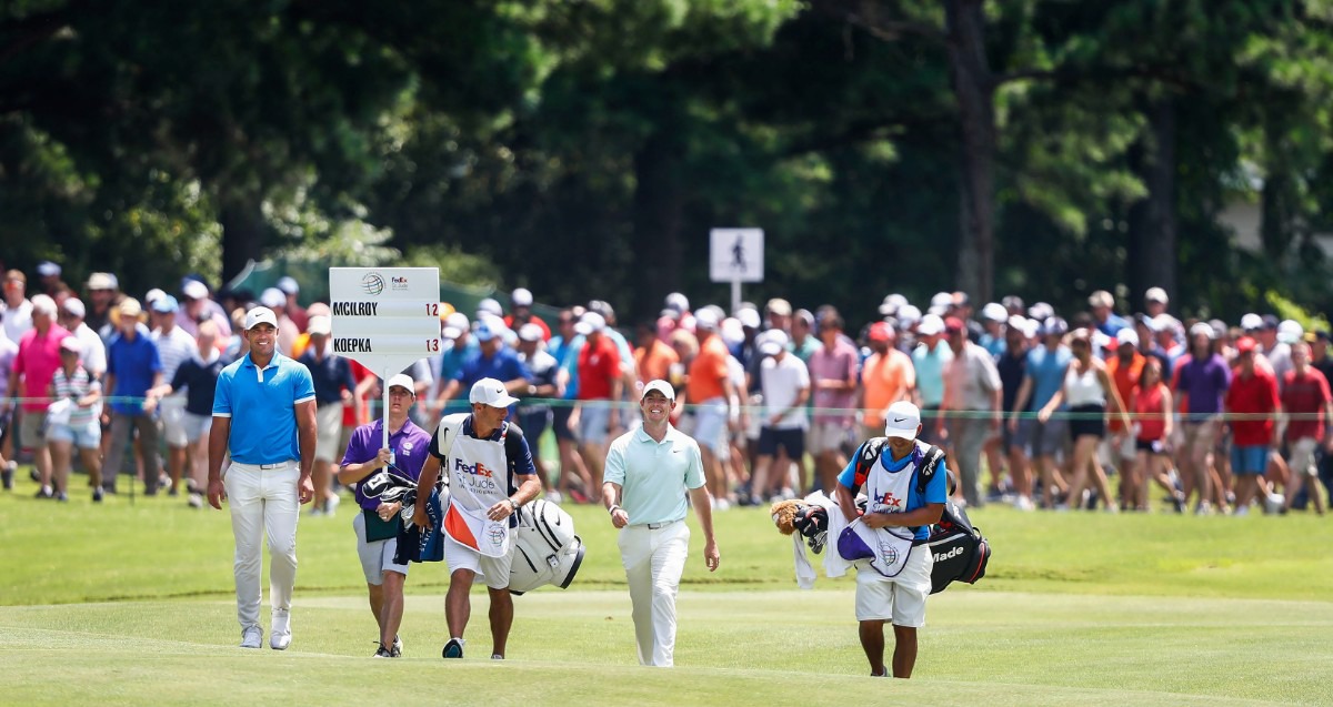
[[[277,469],[232,462],[223,483],[232,511],[236,537],[236,618],[241,628],[259,626],[263,600],[263,539],[268,538],[268,600],[273,612],[292,608],[296,586],[296,519],[301,514],[297,495],[300,467],[291,461]]]

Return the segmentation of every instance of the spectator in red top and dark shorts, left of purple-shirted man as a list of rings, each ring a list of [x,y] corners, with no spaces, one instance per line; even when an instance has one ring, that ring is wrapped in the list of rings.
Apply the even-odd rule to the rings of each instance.
[[[1145,357],[1138,385],[1130,391],[1129,410],[1134,418],[1136,465],[1133,502],[1136,510],[1148,510],[1148,479],[1170,494],[1176,513],[1185,511],[1185,494],[1170,482],[1170,435],[1173,421],[1170,387],[1162,381],[1162,362]]]

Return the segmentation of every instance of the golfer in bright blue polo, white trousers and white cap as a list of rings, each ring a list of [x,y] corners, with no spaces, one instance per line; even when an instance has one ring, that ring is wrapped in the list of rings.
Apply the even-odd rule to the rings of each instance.
[[[296,521],[315,495],[315,383],[305,366],[277,353],[277,317],[268,308],[245,313],[249,353],[223,369],[208,435],[208,503],[227,499],[236,537],[236,615],[241,647],[259,648],[263,547],[268,537],[269,647],[292,642]],[[231,465],[223,474],[223,459]]]

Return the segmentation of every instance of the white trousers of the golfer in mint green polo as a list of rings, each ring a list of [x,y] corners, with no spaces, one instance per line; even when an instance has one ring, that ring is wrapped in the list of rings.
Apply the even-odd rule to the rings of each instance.
[[[627,526],[619,545],[635,607],[639,664],[670,667],[676,652],[676,594],[689,554],[689,526],[684,521],[657,529]]]

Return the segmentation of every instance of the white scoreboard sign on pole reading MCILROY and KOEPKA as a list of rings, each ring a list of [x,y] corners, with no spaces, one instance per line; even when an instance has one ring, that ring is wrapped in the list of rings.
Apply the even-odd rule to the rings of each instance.
[[[440,353],[437,268],[329,268],[333,353],[384,381],[384,446],[389,446],[389,377]]]

